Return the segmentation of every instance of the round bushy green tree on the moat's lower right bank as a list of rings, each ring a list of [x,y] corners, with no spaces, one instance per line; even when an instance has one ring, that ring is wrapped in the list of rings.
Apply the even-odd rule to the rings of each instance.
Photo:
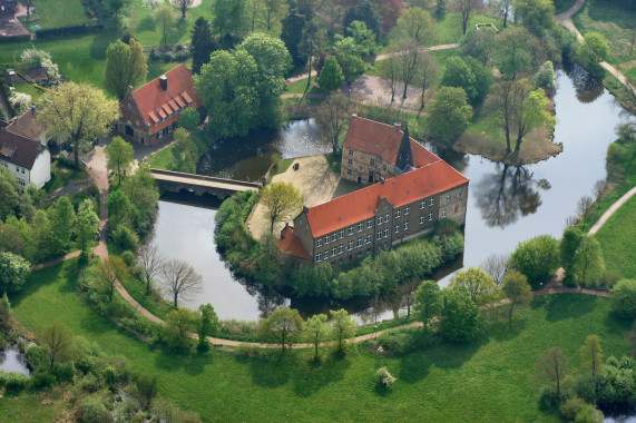
[[[511,255],[512,267],[526,275],[534,288],[550,278],[558,267],[558,242],[550,235],[519,243]]]

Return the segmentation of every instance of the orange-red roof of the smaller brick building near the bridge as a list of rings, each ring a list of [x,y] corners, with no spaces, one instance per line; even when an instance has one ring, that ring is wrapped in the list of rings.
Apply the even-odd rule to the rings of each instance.
[[[150,135],[179,120],[180,114],[173,112],[170,107],[175,105],[175,102],[178,102],[179,106],[185,106],[190,102],[190,106],[195,109],[202,107],[194,90],[194,81],[188,68],[184,65],[179,65],[166,72],[165,77],[167,78],[168,85],[166,90],[162,89],[159,78],[156,78],[144,87],[133,91],[133,98],[139,107],[144,121],[150,125]],[[179,96],[182,96],[185,101],[182,100]],[[155,126],[151,114],[158,115],[165,120],[159,121],[158,125]],[[170,114],[172,116],[169,116]]]

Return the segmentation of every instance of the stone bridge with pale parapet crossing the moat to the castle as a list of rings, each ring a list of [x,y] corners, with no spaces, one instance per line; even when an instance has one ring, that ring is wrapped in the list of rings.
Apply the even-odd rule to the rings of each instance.
[[[192,191],[198,196],[209,194],[223,200],[234,193],[257,190],[261,184],[243,180],[214,178],[211,176],[183,174],[180,171],[150,169],[156,184],[169,193]]]

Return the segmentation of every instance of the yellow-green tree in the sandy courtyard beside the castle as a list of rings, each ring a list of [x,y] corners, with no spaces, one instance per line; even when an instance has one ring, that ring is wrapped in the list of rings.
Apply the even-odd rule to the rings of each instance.
[[[270,230],[274,224],[293,218],[303,207],[303,196],[291,183],[272,183],[261,191],[261,203],[270,220]]]

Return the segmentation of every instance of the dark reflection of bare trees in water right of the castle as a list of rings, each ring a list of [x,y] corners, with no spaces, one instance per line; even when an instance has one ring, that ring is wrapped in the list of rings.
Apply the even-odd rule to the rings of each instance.
[[[498,173],[487,175],[476,187],[477,206],[488,226],[501,228],[519,216],[537,212],[541,205],[540,189],[549,189],[546,179],[534,179],[524,166],[497,165]]]

